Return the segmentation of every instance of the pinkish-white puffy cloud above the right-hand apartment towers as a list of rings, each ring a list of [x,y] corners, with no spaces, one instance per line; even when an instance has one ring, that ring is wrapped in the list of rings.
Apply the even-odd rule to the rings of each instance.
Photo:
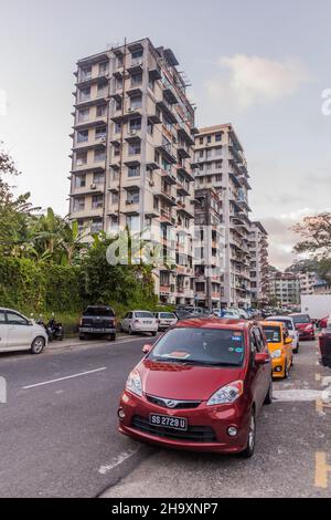
[[[216,76],[206,83],[210,96],[241,108],[288,97],[310,80],[305,66],[290,59],[281,62],[235,54],[221,58],[216,66]]]

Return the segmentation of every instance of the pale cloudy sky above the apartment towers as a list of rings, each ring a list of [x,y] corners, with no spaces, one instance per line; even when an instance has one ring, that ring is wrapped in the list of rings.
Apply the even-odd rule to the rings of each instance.
[[[18,193],[66,215],[76,61],[149,37],[190,79],[196,125],[235,126],[270,263],[293,261],[292,225],[331,207],[329,0],[1,0],[0,9],[0,141],[22,171]]]

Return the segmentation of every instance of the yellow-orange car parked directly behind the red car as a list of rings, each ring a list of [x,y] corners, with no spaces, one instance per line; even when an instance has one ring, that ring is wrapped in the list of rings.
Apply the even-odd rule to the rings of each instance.
[[[293,365],[292,340],[284,323],[261,322],[273,360],[273,377],[287,378]]]

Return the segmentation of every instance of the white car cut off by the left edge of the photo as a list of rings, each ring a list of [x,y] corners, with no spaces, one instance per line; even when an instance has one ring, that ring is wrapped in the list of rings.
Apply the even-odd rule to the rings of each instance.
[[[0,308],[0,352],[41,354],[49,337],[43,326],[11,309]]]

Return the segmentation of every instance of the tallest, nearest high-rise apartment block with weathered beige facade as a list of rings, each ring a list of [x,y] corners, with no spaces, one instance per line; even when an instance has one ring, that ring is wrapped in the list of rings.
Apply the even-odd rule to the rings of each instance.
[[[71,218],[92,232],[152,229],[164,303],[194,302],[194,108],[170,49],[149,39],[77,63]]]

